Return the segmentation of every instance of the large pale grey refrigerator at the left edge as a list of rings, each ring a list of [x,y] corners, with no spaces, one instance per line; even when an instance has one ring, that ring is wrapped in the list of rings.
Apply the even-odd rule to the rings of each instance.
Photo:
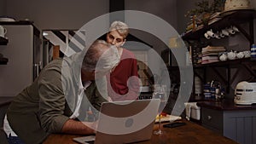
[[[39,73],[42,57],[40,31],[29,21],[0,22],[7,29],[9,43],[0,53],[9,59],[0,66],[0,96],[15,96],[32,84]]]

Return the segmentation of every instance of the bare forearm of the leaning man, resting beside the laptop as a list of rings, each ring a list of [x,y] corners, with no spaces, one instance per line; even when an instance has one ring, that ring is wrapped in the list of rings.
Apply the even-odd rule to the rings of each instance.
[[[92,125],[91,123],[88,124]],[[63,125],[61,132],[67,134],[89,135],[94,134],[95,130],[90,129],[87,124],[73,119],[68,119]]]

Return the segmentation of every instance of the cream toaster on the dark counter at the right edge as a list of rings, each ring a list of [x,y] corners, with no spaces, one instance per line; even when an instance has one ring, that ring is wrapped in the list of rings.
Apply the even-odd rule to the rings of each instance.
[[[256,103],[256,83],[240,82],[236,85],[235,103],[237,105],[252,105]]]

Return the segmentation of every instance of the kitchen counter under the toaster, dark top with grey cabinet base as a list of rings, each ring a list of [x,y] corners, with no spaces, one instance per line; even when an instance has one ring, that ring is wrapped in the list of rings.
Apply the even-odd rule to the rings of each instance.
[[[201,124],[241,144],[256,143],[256,106],[234,101],[198,101]]]

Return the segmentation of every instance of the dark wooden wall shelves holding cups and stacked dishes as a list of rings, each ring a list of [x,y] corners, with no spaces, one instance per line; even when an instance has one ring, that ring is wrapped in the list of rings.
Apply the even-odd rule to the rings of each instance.
[[[183,40],[188,42],[189,44],[193,42],[200,42],[200,41],[209,41],[204,37],[204,33],[212,29],[212,32],[218,32],[226,27],[236,26],[239,32],[246,37],[248,43],[252,45],[254,43],[254,30],[253,30],[253,20],[256,19],[256,10],[254,9],[241,9],[241,10],[232,10],[221,13],[218,15],[220,20],[213,22],[208,26],[203,26],[201,29],[196,30],[195,32],[187,32],[183,35]],[[242,26],[241,26],[242,25]],[[246,26],[244,26],[246,25]],[[249,48],[248,48],[249,49]],[[193,50],[193,48],[192,48]],[[192,59],[195,59],[195,55],[192,53]],[[193,62],[195,60],[192,60]],[[224,82],[226,87],[226,93],[230,93],[230,83],[231,81],[236,78],[238,72],[235,72],[231,78],[230,76],[230,69],[241,67],[243,70],[246,70],[253,79],[256,79],[256,72],[255,67],[252,68],[253,65],[256,64],[255,60],[250,58],[244,59],[236,59],[236,60],[226,60],[226,61],[218,61],[212,62],[209,64],[193,64],[195,76],[201,78],[203,83],[206,83],[206,76],[207,76],[207,69],[210,69],[211,72],[216,73],[218,78]],[[225,75],[222,75],[218,72],[219,68],[224,68],[226,70]],[[199,72],[203,72],[201,75]],[[195,91],[195,90],[194,90]]]

